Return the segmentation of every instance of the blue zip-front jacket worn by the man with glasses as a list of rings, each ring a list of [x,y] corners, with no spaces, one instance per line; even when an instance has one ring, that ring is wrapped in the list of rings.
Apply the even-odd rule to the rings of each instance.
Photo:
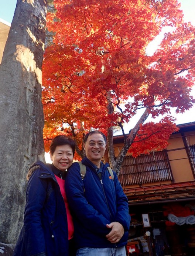
[[[107,248],[121,247],[127,244],[130,215],[128,200],[119,183],[109,174],[109,164],[102,163],[101,180],[97,167],[83,158],[86,165],[85,178],[81,179],[78,163],[73,163],[66,175],[65,189],[74,221],[75,244],[82,247]],[[117,221],[124,227],[124,235],[116,243],[110,243],[106,235],[111,231],[106,224]]]

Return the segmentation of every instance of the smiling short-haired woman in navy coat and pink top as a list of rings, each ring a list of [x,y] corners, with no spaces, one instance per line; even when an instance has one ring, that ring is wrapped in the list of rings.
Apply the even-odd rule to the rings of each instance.
[[[58,135],[49,150],[52,164],[38,161],[28,171],[24,225],[13,256],[73,255],[73,222],[64,179],[72,165],[75,142]]]

